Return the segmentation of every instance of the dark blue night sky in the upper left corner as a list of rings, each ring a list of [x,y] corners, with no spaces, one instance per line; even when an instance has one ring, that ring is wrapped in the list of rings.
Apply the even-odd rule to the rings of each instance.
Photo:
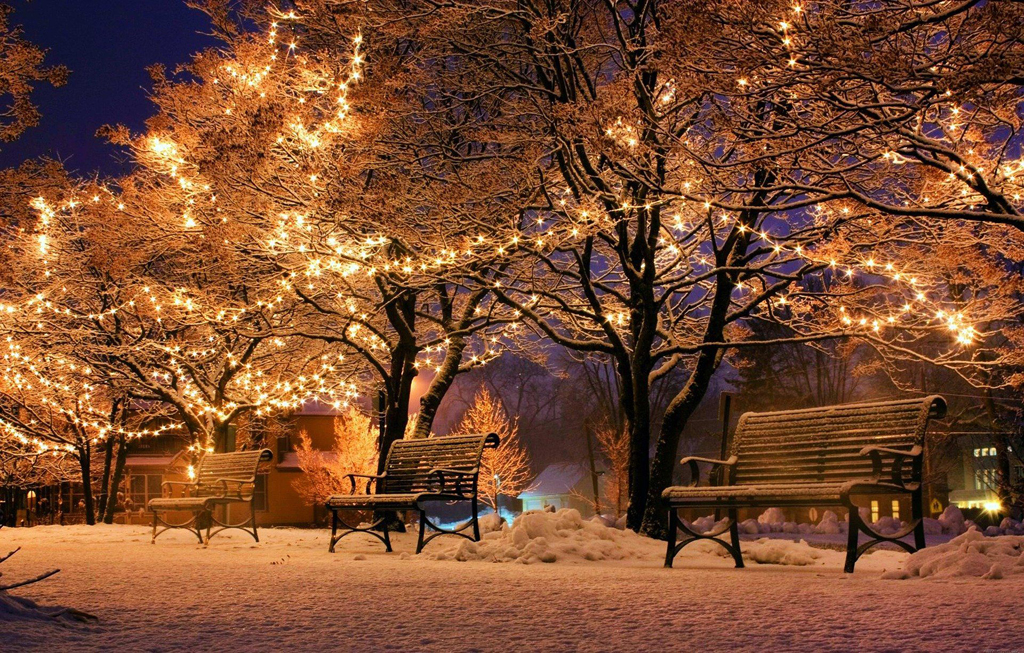
[[[80,174],[122,172],[123,157],[95,137],[96,129],[115,123],[141,129],[153,113],[145,68],[159,62],[171,71],[215,44],[201,34],[208,31],[206,16],[184,0],[4,1],[14,7],[11,24],[71,76],[62,88],[39,87],[34,97],[42,120],[18,141],[0,143],[0,167],[49,155]]]

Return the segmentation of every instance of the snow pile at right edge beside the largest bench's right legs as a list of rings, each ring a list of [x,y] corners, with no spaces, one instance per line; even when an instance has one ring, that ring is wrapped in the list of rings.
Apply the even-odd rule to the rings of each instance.
[[[885,578],[984,578],[1024,574],[1024,537],[986,537],[977,529],[945,545],[930,547],[906,559],[902,571]]]

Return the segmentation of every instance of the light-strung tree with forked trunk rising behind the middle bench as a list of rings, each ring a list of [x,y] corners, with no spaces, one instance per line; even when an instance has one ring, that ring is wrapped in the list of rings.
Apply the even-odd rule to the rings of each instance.
[[[516,319],[459,276],[496,278],[478,251],[510,198],[487,189],[507,192],[494,162],[517,157],[474,139],[471,118],[418,120],[443,107],[390,42],[370,44],[378,60],[364,83],[359,14],[271,13],[256,34],[211,4],[228,47],[196,58],[198,84],[158,82],[146,134],[112,133],[156,173],[163,211],[245,260],[253,295],[294,309],[267,333],[327,343],[385,390],[385,449],[429,369],[416,423],[426,436],[455,376],[494,358]]]

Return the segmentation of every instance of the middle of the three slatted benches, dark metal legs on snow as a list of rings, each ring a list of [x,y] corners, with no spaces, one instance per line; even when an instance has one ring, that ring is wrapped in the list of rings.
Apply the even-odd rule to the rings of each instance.
[[[480,473],[480,456],[484,447],[497,447],[498,444],[498,436],[494,433],[395,441],[388,451],[383,474],[348,474],[345,478],[352,485],[351,493],[328,497],[327,508],[332,514],[329,551],[334,553],[339,539],[356,532],[377,537],[384,542],[388,552],[391,551],[391,538],[388,535],[390,515],[380,516],[369,526],[350,526],[341,519],[339,512],[352,510],[419,511],[420,537],[416,553],[420,553],[434,537],[444,534],[479,541],[476,481]],[[355,493],[357,478],[367,479],[365,494]],[[373,494],[370,493],[371,486],[375,486],[376,492]],[[473,516],[458,528],[441,528],[427,518],[425,504],[428,502],[464,500],[470,502]],[[344,528],[340,535],[339,526]],[[427,526],[435,532],[424,538]],[[473,529],[472,536],[463,532],[470,527]]]

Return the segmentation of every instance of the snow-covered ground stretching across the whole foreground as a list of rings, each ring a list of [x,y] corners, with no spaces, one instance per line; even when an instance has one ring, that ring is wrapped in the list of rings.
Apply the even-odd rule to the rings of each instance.
[[[914,558],[881,551],[853,575],[841,552],[806,543],[752,539],[748,568],[733,569],[701,542],[665,569],[663,542],[572,513],[527,515],[477,545],[441,538],[421,556],[413,534],[396,536],[393,554],[353,535],[331,555],[323,530],[263,529],[259,543],[225,533],[203,547],[182,531],[151,545],[139,526],[4,528],[0,555],[23,547],[0,567],[5,582],[61,569],[11,595],[99,621],[0,610],[0,650],[1024,647],[1021,537],[968,533]],[[929,577],[895,579],[918,574]]]

